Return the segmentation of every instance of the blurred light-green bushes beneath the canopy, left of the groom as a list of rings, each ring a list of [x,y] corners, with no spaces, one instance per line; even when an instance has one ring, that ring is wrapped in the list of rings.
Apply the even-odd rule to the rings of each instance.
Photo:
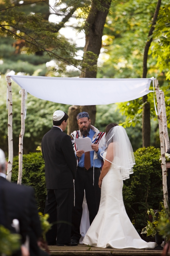
[[[8,155],[8,110],[6,109],[6,81],[0,79],[0,148]],[[20,87],[12,81],[13,92],[13,146],[14,155],[18,155],[19,134],[21,131],[21,95]],[[27,114],[25,119],[24,154],[35,152],[41,140],[53,126],[52,115],[57,109],[68,111],[69,105],[38,99],[28,93]]]

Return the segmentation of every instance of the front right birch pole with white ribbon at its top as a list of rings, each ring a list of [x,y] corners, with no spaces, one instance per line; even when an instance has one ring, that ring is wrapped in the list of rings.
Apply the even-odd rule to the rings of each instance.
[[[155,83],[155,92],[157,99],[157,109],[158,113],[158,124],[159,124],[159,137],[161,143],[161,160],[162,160],[162,185],[163,185],[163,200],[165,208],[168,208],[168,190],[167,190],[167,170],[166,170],[166,159],[165,159],[165,141],[163,136],[163,124],[162,124],[162,108],[161,108],[161,96],[159,91],[158,80],[154,80]]]

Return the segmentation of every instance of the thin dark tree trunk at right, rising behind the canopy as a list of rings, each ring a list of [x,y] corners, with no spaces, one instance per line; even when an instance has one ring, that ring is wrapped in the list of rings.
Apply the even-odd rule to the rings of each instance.
[[[161,0],[158,0],[157,6],[155,9],[154,17],[152,20],[152,26],[148,33],[148,38],[153,34],[154,25],[156,24],[156,19],[158,17],[158,12],[161,6]],[[147,75],[147,61],[148,61],[148,51],[151,45],[152,38],[147,40],[145,49],[144,49],[144,56],[143,56],[143,75],[142,78],[146,78]],[[150,125],[150,102],[147,102],[148,96],[143,96],[143,113],[142,113],[142,139],[143,139],[143,147],[150,146],[150,133],[151,133],[151,125]]]

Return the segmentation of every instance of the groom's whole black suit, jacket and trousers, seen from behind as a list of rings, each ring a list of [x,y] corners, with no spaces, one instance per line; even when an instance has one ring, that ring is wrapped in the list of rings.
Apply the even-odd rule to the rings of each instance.
[[[44,135],[41,145],[47,186],[44,214],[50,215],[50,223],[57,222],[47,233],[47,242],[67,244],[71,237],[73,179],[76,178],[77,171],[75,153],[70,136],[55,126]]]

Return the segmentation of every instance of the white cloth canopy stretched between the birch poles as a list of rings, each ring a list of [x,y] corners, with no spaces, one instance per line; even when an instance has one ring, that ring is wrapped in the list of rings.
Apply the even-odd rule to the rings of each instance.
[[[102,105],[125,102],[148,94],[150,78],[70,78],[45,76],[10,77],[42,100],[69,105]]]

